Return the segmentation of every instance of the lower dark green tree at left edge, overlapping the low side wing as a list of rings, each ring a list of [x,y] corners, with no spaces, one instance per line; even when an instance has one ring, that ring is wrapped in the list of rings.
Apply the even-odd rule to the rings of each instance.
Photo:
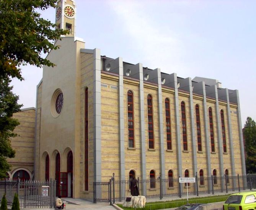
[[[10,81],[0,79],[0,178],[5,178],[6,172],[10,170],[7,158],[15,156],[10,139],[17,136],[13,130],[20,123],[12,116],[22,107],[18,104],[19,97],[11,91],[13,87],[9,86]]]

